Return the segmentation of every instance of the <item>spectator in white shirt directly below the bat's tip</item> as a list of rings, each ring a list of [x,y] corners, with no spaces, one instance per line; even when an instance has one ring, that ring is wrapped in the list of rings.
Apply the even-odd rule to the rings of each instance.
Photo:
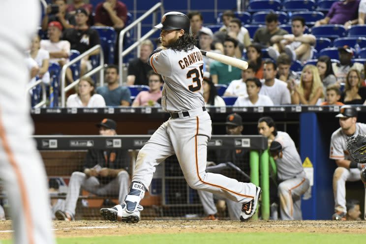
[[[242,79],[230,82],[224,96],[247,96],[248,93],[246,92],[245,82],[249,78],[254,78],[255,72],[256,65],[253,62],[249,62],[247,69],[242,70]]]

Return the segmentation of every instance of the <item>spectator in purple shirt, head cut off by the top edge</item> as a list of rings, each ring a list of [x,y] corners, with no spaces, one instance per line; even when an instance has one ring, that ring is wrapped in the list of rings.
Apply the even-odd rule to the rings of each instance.
[[[320,25],[344,25],[345,28],[358,23],[358,8],[360,0],[336,1],[332,4],[327,16],[315,22],[314,26]]]

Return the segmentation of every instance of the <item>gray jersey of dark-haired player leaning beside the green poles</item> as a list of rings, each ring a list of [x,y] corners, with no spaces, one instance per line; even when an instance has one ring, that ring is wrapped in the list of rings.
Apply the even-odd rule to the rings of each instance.
[[[305,176],[299,152],[296,150],[291,137],[286,132],[277,131],[274,140],[282,145],[283,152],[282,158],[275,160],[278,179],[284,181],[295,176]]]

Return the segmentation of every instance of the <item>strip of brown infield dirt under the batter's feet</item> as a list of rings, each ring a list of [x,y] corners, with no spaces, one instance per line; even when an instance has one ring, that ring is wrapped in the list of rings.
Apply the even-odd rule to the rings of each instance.
[[[158,233],[212,233],[212,232],[314,232],[362,233],[366,221],[188,221],[152,220],[137,224],[110,221],[53,221],[57,237],[123,236]],[[0,240],[10,239],[11,221],[0,221]]]

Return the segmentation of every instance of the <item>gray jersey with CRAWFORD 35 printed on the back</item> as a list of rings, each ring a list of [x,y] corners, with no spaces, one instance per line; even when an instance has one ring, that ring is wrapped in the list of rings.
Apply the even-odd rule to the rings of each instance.
[[[161,96],[161,107],[165,111],[188,111],[205,106],[203,56],[197,47],[188,52],[162,50],[150,57],[149,64],[165,82]]]

